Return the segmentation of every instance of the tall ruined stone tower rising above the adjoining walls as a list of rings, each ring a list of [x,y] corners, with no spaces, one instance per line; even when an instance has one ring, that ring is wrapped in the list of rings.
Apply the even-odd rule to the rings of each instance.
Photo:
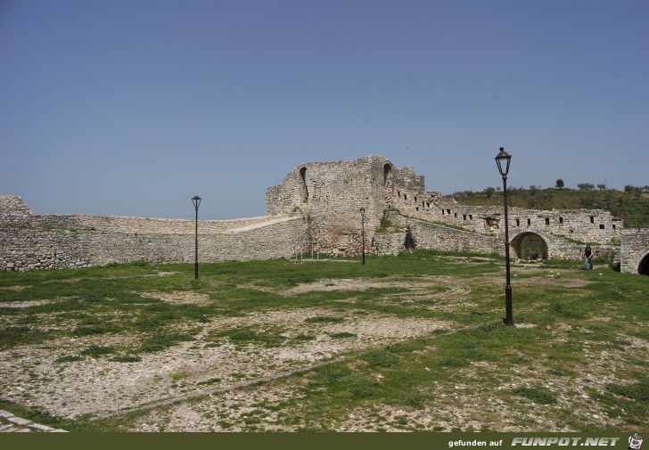
[[[366,245],[372,241],[384,211],[431,209],[439,192],[424,192],[423,176],[413,168],[396,168],[381,156],[354,161],[306,163],[294,168],[282,184],[267,189],[267,214],[300,215],[308,225],[308,242],[333,255],[357,255],[362,246],[360,209],[365,209]],[[404,200],[405,199],[405,200]],[[416,205],[415,205],[416,203]],[[406,207],[407,210],[407,207]]]

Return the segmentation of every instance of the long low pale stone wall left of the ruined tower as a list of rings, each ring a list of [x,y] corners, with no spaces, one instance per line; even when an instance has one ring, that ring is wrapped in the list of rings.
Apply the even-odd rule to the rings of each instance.
[[[21,204],[0,197],[0,217],[17,217],[26,208]],[[0,268],[6,270],[194,260],[193,220],[30,216],[20,226],[14,222],[0,227]],[[199,260],[290,258],[304,245],[305,232],[301,217],[199,221]]]

